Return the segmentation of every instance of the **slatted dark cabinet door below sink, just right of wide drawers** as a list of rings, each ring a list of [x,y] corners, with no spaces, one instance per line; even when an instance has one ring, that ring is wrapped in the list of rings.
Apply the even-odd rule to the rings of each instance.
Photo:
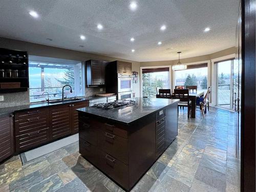
[[[54,140],[72,133],[72,104],[49,107],[50,139]]]

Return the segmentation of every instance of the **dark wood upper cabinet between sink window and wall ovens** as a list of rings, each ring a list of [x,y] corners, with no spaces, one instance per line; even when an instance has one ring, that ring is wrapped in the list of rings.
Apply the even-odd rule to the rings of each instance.
[[[105,84],[106,61],[88,60],[86,61],[86,84],[87,87],[102,86]]]

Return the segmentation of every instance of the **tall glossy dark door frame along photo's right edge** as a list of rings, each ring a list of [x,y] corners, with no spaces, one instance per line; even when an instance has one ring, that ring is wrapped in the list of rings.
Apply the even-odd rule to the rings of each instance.
[[[255,191],[255,0],[242,3],[241,191]]]

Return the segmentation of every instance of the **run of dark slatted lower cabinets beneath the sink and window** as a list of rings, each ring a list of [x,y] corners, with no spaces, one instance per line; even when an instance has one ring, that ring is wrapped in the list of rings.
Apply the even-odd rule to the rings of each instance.
[[[15,112],[16,152],[27,151],[58,138],[78,133],[76,109],[86,106],[89,106],[89,101]]]

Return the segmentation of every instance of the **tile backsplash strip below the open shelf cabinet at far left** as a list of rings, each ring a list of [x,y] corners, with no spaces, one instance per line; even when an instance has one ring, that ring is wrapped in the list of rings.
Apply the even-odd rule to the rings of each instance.
[[[4,93],[4,101],[0,101],[0,108],[29,104],[29,92]]]

